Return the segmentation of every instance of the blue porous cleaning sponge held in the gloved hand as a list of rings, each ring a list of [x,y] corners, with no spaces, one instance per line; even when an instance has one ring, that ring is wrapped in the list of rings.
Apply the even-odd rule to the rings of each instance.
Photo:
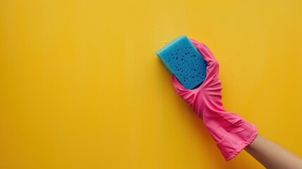
[[[177,37],[156,55],[186,89],[198,87],[206,78],[208,64],[187,36]]]

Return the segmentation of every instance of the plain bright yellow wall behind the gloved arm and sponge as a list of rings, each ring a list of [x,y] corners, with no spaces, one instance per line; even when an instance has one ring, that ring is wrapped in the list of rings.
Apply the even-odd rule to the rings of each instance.
[[[302,156],[301,1],[0,1],[0,168],[263,168],[225,162],[155,52],[220,62],[222,101]]]

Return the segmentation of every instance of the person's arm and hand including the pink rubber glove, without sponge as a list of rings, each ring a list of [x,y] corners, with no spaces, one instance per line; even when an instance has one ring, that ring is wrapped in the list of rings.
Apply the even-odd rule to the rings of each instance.
[[[172,83],[177,94],[203,119],[225,159],[229,161],[245,149],[266,168],[302,168],[301,158],[258,135],[256,126],[236,113],[225,111],[221,102],[218,61],[205,44],[192,39],[191,42],[208,63],[206,80],[201,86],[191,90],[184,89],[174,75],[171,75]]]

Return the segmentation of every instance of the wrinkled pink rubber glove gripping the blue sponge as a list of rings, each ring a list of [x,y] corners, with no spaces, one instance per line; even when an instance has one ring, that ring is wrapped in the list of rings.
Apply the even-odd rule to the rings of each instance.
[[[218,61],[205,44],[193,39],[191,42],[208,63],[206,79],[200,87],[191,90],[185,89],[174,75],[171,75],[172,83],[177,94],[203,119],[220,152],[229,161],[253,142],[257,136],[257,128],[236,113],[225,111],[221,102]]]

